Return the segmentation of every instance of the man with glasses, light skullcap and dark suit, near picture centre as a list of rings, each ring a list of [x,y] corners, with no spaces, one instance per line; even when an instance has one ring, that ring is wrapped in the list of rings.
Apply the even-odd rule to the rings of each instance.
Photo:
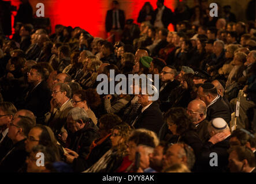
[[[133,121],[132,126],[134,128],[145,128],[155,133],[159,133],[162,125],[164,124],[164,118],[162,112],[159,109],[158,102],[150,101],[149,94],[140,94],[139,102],[142,105],[142,112]]]

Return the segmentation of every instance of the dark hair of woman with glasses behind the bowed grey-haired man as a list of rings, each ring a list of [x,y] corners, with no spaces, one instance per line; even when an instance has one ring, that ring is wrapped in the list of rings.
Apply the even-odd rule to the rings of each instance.
[[[77,95],[82,101],[86,101],[90,108],[97,108],[101,104],[101,97],[95,89],[77,90],[74,95]]]

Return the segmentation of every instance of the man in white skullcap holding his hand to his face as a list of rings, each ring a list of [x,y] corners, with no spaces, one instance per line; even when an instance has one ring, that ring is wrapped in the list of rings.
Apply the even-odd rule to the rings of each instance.
[[[214,118],[209,122],[208,131],[211,138],[203,144],[199,156],[199,170],[225,173],[228,170],[228,149],[231,136],[228,124],[222,118]]]

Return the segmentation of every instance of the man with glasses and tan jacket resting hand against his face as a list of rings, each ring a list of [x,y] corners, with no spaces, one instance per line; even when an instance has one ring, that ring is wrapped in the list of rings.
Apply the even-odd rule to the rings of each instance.
[[[53,129],[54,135],[60,143],[65,143],[68,132],[64,128],[69,110],[73,108],[71,102],[71,87],[66,83],[57,83],[51,93],[51,110],[46,114],[46,125]]]

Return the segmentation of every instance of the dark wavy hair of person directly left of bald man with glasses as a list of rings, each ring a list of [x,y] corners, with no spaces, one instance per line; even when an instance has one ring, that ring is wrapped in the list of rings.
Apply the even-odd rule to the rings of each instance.
[[[177,126],[176,132],[182,135],[188,129],[193,128],[190,116],[188,116],[184,108],[170,108],[164,117],[166,122],[170,122]]]

